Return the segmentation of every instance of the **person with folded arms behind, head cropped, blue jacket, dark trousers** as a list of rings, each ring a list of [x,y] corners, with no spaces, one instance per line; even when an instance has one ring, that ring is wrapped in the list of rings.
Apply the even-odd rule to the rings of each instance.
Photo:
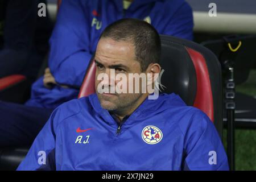
[[[30,145],[51,111],[77,98],[101,32],[128,17],[146,20],[159,34],[192,39],[192,10],[184,0],[63,0],[50,39],[49,68],[32,85],[30,100],[25,105],[0,101],[0,147]]]

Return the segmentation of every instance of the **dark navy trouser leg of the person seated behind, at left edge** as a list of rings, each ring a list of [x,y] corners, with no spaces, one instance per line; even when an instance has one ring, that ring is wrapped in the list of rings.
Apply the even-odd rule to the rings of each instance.
[[[52,111],[0,101],[0,147],[30,146]]]

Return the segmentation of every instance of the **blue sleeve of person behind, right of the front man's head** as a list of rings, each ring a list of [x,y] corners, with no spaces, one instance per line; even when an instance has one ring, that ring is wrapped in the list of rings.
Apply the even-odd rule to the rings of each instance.
[[[168,15],[166,15],[168,17]],[[175,13],[170,16],[167,26],[164,28],[164,35],[172,35],[178,38],[193,39],[193,14],[187,2],[183,2]]]

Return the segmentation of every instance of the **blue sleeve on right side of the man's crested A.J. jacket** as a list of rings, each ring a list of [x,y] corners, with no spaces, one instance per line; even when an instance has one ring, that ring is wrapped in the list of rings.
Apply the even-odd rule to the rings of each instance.
[[[185,134],[183,170],[229,170],[221,139],[206,114],[196,113]]]

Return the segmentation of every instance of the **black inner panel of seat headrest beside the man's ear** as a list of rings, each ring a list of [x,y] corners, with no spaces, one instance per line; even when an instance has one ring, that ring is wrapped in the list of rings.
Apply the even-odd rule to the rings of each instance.
[[[164,93],[176,93],[187,105],[193,105],[196,97],[196,72],[187,49],[161,36],[162,57],[160,65],[164,69],[161,84]]]

